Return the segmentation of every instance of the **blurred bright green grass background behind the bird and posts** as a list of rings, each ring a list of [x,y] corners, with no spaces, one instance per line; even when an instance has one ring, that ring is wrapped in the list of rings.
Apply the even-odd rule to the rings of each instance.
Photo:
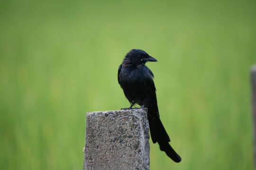
[[[128,106],[117,68],[138,48],[183,157],[151,143],[151,170],[252,170],[255,16],[255,0],[1,1],[0,169],[81,170],[85,112]]]

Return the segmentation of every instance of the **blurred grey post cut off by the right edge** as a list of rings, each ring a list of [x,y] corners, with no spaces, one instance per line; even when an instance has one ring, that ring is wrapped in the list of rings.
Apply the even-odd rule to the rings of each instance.
[[[251,68],[252,114],[254,119],[254,163],[256,170],[256,65]]]

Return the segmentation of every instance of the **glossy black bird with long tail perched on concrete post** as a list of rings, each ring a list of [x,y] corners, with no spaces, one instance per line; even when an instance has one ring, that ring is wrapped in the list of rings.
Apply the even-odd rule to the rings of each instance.
[[[170,138],[165,131],[158,112],[155,95],[155,84],[152,71],[146,67],[147,61],[157,61],[145,51],[133,49],[129,51],[118,69],[118,82],[131,106],[124,109],[133,109],[135,104],[141,109],[147,108],[147,117],[153,143],[159,144],[160,150],[175,162],[180,162],[181,157],[169,144]],[[138,109],[138,108],[137,108]]]

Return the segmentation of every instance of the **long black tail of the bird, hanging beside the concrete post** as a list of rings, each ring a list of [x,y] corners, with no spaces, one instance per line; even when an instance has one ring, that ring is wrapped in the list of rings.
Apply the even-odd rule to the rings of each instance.
[[[165,153],[175,162],[180,162],[181,157],[174,151],[172,146],[169,144],[170,138],[163,126],[161,120],[157,117],[150,118],[148,117],[150,134],[153,143],[158,143],[160,150],[165,151]]]

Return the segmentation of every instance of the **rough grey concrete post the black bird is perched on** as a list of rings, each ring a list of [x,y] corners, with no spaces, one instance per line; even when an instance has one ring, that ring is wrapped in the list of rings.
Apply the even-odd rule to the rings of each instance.
[[[84,170],[149,170],[146,110],[87,112]]]

